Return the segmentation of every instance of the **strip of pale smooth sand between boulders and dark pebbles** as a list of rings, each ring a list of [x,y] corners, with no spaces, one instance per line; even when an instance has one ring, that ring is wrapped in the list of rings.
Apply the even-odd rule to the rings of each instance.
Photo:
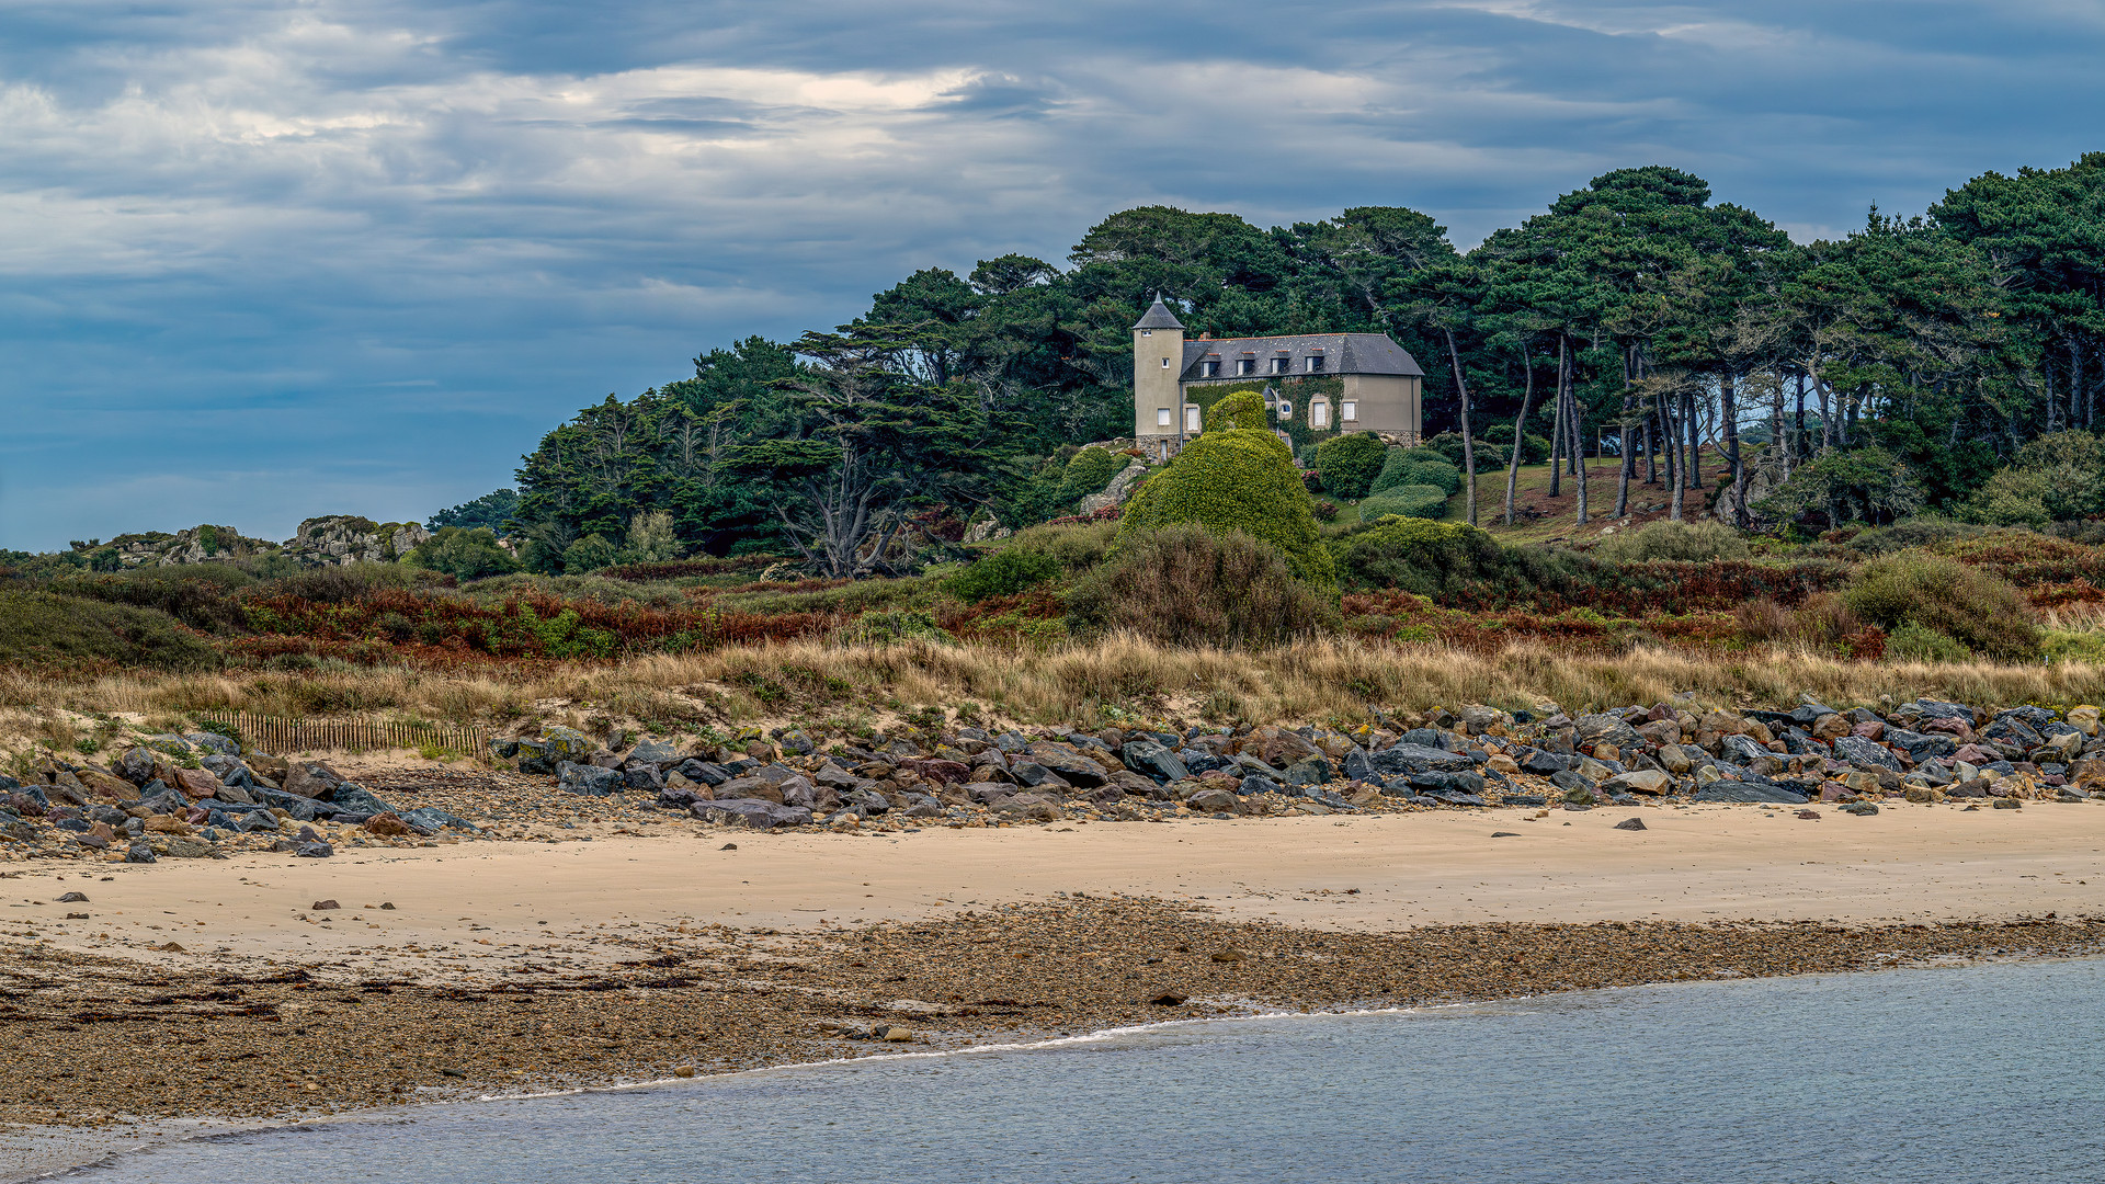
[[[171,969],[293,959],[387,973],[596,965],[680,925],[817,931],[1061,893],[1204,902],[1223,921],[1366,931],[2105,912],[2105,809],[2097,805],[1894,803],[1869,817],[1821,813],[1810,822],[1791,809],[1695,805],[895,834],[671,822],[621,828],[650,834],[587,826],[558,843],[335,860],[29,864],[0,889],[15,942],[122,952]],[[1646,830],[1615,830],[1629,817]],[[1495,838],[1499,830],[1511,834]],[[88,902],[57,904],[65,891]],[[314,912],[322,900],[341,910]],[[67,912],[88,919],[65,921]],[[152,948],[168,942],[183,952]]]

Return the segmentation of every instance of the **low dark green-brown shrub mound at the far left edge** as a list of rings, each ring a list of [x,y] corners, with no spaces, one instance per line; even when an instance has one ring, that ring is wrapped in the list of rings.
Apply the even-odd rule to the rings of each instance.
[[[55,592],[0,592],[0,664],[95,659],[208,670],[219,666],[219,651],[154,609]]]

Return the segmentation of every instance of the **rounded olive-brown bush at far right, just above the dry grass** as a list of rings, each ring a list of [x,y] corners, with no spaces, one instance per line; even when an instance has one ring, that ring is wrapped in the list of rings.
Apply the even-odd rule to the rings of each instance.
[[[1888,634],[1916,624],[1987,657],[2017,662],[2040,655],[2040,626],[2025,594],[2008,579],[1956,558],[1928,552],[1873,558],[1842,603]]]

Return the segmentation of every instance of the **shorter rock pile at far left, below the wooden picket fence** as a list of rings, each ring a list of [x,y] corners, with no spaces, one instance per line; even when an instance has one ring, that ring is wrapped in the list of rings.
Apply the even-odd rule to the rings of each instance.
[[[154,735],[107,765],[40,758],[0,775],[0,853],[152,864],[236,849],[335,853],[333,836],[413,841],[474,832],[436,807],[396,809],[320,761],[286,761],[215,733]]]

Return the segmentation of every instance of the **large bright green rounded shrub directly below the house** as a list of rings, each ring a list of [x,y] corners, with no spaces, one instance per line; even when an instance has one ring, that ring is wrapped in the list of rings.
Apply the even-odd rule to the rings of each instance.
[[[1316,531],[1314,501],[1301,487],[1292,453],[1261,428],[1206,432],[1149,476],[1118,525],[1128,537],[1194,522],[1225,535],[1244,531],[1286,556],[1292,573],[1335,588],[1330,552]]]

